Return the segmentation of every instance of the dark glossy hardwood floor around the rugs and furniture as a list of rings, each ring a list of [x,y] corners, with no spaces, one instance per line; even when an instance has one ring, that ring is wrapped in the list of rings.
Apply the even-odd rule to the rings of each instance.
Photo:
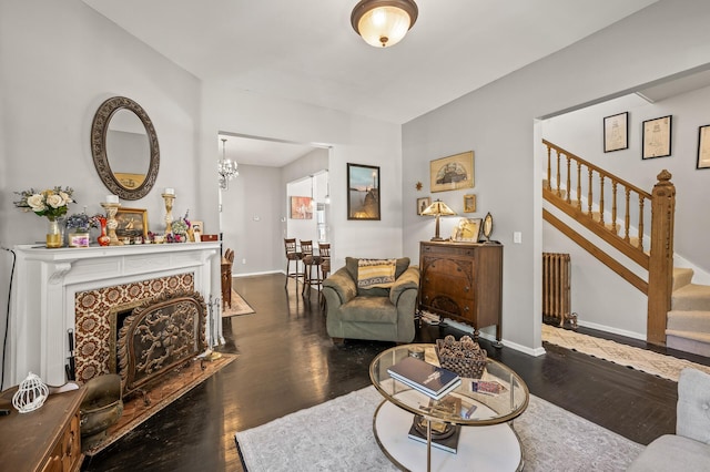
[[[293,280],[284,289],[284,277],[235,278],[235,290],[256,311],[224,319],[227,343],[222,350],[240,357],[116,443],[87,458],[82,470],[241,471],[236,431],[369,386],[369,362],[394,343],[348,340],[334,347],[316,291],[302,298],[301,286],[296,291]],[[462,335],[425,325],[417,340],[434,342],[447,334]],[[647,444],[674,431],[672,381],[550,345],[537,358],[495,349],[486,340],[480,345],[516,370],[532,394],[633,441]]]

